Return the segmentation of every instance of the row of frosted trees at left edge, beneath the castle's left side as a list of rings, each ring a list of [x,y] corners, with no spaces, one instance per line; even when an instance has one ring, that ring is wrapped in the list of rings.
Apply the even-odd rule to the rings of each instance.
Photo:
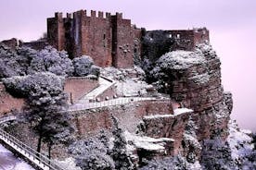
[[[0,79],[46,71],[72,76],[73,66],[67,52],[58,52],[51,46],[36,51],[28,47],[11,49],[0,44]]]

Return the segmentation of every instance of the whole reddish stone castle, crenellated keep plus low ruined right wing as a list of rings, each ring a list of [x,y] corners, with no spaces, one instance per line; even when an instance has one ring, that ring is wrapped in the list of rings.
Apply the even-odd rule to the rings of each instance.
[[[209,41],[209,30],[164,30],[166,38],[173,39],[172,50],[191,51],[196,44]],[[142,29],[131,24],[131,19],[122,18],[122,13],[111,15],[86,10],[67,14],[56,13],[47,18],[47,42],[58,50],[66,50],[70,57],[90,55],[99,67],[133,67],[134,56],[143,50]],[[154,31],[147,31],[152,40]]]

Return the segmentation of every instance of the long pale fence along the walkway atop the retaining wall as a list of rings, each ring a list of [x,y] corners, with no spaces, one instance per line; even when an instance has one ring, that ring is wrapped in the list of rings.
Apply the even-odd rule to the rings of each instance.
[[[156,100],[162,100],[157,99],[154,97],[130,97],[130,98],[117,98],[109,101],[103,101],[98,103],[76,103],[73,105],[70,105],[69,111],[79,111],[79,110],[88,110],[93,108],[100,108],[105,106],[112,106],[112,105],[121,105],[125,103],[133,103],[133,102],[139,102],[139,101],[156,101]]]

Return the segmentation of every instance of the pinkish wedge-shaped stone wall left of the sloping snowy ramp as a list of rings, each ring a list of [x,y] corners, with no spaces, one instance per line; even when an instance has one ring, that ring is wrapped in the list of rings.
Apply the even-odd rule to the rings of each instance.
[[[64,91],[69,95],[69,103],[76,103],[83,95],[98,87],[97,79],[70,77],[65,80]]]

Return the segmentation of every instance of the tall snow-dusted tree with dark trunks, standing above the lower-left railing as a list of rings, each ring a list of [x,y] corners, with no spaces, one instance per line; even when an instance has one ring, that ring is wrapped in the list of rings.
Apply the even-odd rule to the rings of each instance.
[[[45,140],[50,156],[51,146],[71,131],[70,117],[65,112],[67,94],[63,91],[63,78],[46,72],[4,79],[4,83],[7,91],[26,98],[24,117],[39,136],[37,151],[41,151]]]

